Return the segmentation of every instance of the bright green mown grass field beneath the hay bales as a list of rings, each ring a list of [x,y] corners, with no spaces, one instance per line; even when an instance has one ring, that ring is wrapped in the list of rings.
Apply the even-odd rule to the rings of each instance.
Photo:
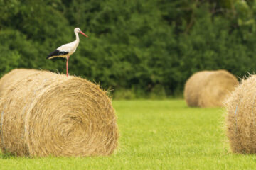
[[[29,159],[0,154],[0,169],[255,169],[254,155],[232,154],[223,110],[183,100],[114,101],[119,148],[110,157]]]

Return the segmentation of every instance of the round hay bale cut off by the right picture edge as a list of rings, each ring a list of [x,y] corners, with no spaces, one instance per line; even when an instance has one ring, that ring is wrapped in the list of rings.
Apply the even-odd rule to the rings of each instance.
[[[256,75],[242,80],[225,101],[226,133],[235,153],[256,153]]]

